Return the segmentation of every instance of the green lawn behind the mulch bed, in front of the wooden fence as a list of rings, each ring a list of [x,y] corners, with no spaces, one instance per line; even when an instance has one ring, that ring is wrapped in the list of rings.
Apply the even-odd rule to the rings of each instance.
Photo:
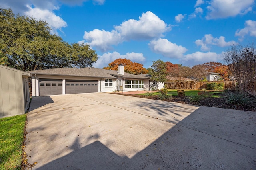
[[[185,96],[196,95],[198,94],[198,92],[203,92],[203,90],[184,90],[184,91],[185,91]],[[212,94],[212,97],[220,98],[221,96],[218,94],[220,93],[222,94],[223,91],[210,91],[210,93]],[[144,94],[141,94],[141,95],[144,95]],[[159,95],[159,94],[161,93],[160,92],[153,93],[153,95]],[[178,96],[177,89],[168,89],[168,95]]]

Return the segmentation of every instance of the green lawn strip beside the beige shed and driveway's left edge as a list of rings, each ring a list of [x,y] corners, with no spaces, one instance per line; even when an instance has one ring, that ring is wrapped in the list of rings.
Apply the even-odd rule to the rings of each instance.
[[[20,170],[26,114],[0,119],[0,170]]]

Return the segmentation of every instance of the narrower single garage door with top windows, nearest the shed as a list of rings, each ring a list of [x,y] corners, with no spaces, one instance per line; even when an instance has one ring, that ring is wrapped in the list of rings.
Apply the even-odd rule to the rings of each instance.
[[[39,78],[39,95],[48,96],[62,94],[62,79]]]

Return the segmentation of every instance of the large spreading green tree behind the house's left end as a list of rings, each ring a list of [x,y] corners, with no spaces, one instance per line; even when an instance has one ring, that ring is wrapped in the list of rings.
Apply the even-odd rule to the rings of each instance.
[[[0,64],[20,70],[92,66],[98,57],[89,45],[68,44],[50,34],[46,21],[14,16],[0,8]]]

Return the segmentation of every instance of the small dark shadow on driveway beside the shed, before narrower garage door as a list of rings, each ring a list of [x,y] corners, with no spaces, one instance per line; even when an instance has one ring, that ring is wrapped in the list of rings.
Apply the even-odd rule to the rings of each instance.
[[[49,103],[54,103],[54,101],[52,100],[52,98],[50,96],[33,97],[28,111],[33,111],[33,110],[38,109],[39,107],[42,107]]]

